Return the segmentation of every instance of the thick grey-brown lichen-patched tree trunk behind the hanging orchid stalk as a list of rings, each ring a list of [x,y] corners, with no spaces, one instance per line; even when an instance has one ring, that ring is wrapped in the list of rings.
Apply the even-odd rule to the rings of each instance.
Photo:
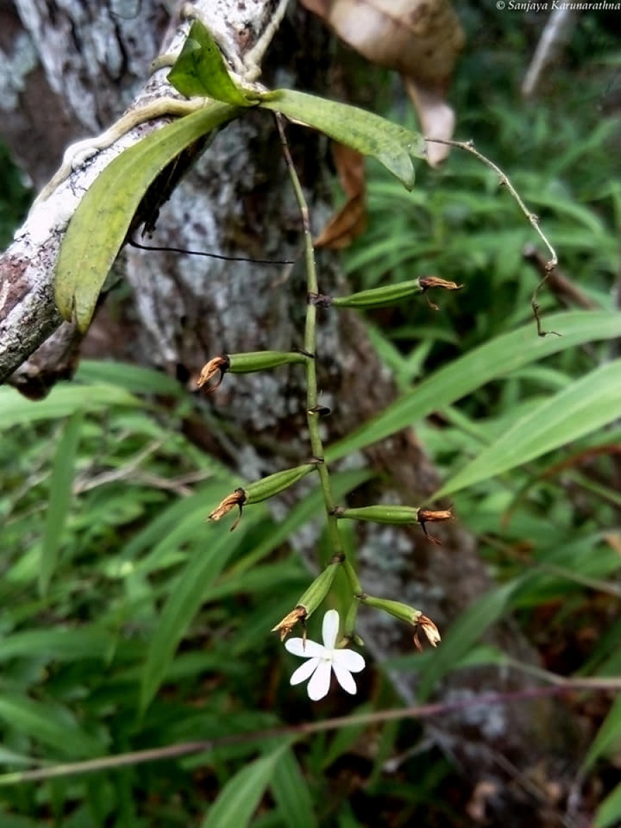
[[[149,89],[141,85],[162,39],[166,48],[179,39],[177,21],[168,18],[169,5],[154,0],[75,0],[60,8],[44,0],[18,0],[15,8],[2,6],[0,46],[23,72],[14,75],[13,98],[1,103],[2,131],[37,188],[50,177],[67,142],[107,127]],[[221,26],[227,19],[231,22],[229,31],[243,53],[265,28],[274,4],[220,0],[211,5],[212,16],[222,15]],[[234,18],[238,6],[246,8],[245,40],[235,37],[242,25]],[[326,38],[301,8],[292,7],[267,55],[265,82],[270,84],[278,75],[279,85],[284,76],[287,84],[323,91]],[[301,128],[291,127],[289,134],[316,230],[329,211],[327,141]],[[16,254],[14,245],[0,260],[2,277],[11,279],[0,310],[0,341],[10,337],[17,318],[30,330],[27,342],[22,337],[7,350],[4,364],[18,368],[12,382],[34,395],[45,391],[56,376],[70,373],[79,340],[71,325],[60,326],[51,299],[50,273],[58,250],[58,240],[51,235],[37,242],[31,234],[28,262],[23,250]],[[249,113],[219,132],[162,210],[152,243],[246,258],[300,258],[301,219],[267,113]],[[328,256],[320,255],[319,268],[320,289],[342,292],[342,278]],[[299,266],[126,248],[117,270],[132,295],[123,299],[121,323],[113,323],[105,307],[100,310],[84,343],[87,353],[163,368],[193,388],[200,367],[215,354],[301,347],[306,283]],[[55,330],[44,349],[30,355]],[[353,315],[326,311],[321,316],[317,357],[325,392],[322,402],[332,410],[326,420],[330,440],[344,436],[395,397],[391,378]],[[217,394],[200,403],[205,428],[194,424],[192,436],[235,465],[244,479],[256,479],[308,454],[305,393],[301,373],[291,368],[235,377],[234,382],[227,378]],[[234,426],[236,437],[227,430],[226,441],[219,439],[213,427],[215,413]],[[286,455],[286,464],[275,447]],[[394,498],[397,493],[401,502],[418,503],[439,482],[412,431],[373,445],[359,462],[371,462],[387,473],[383,484],[373,486],[375,498]],[[490,582],[474,539],[458,522],[444,524],[436,533],[442,546],[431,546],[421,532],[363,526],[359,561],[363,587],[373,585],[375,595],[416,605],[441,630]],[[316,566],[312,551],[303,554]],[[379,613],[361,612],[360,633],[379,662],[412,651],[407,630]],[[490,640],[521,661],[536,660],[510,622],[495,628]],[[447,698],[459,692],[516,690],[524,681],[520,674],[480,669],[451,676],[437,694]],[[415,676],[395,676],[394,683],[403,700],[415,700]],[[486,717],[467,715],[433,723],[433,733],[463,763],[474,784],[485,778],[503,779],[498,753],[526,772],[551,745],[553,716],[542,716],[541,706],[498,709],[493,724],[490,728]],[[508,788],[498,797],[497,818],[504,826],[523,824],[523,813],[520,821],[512,816],[513,797],[520,798]]]

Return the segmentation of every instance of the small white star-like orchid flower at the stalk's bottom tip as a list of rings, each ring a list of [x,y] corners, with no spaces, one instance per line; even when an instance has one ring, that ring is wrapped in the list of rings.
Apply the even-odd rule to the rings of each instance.
[[[352,695],[356,692],[356,682],[352,673],[364,669],[364,659],[354,650],[335,649],[338,634],[339,614],[335,609],[329,609],[324,615],[323,644],[308,639],[305,642],[303,638],[289,638],[285,643],[288,652],[308,659],[293,673],[290,683],[300,684],[301,681],[310,679],[306,691],[313,701],[328,695],[332,671],[335,672],[336,679],[344,691]]]

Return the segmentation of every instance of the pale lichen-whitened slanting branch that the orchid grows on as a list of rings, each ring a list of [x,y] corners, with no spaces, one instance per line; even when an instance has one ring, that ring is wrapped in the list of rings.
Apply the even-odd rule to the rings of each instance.
[[[242,10],[238,8],[239,5],[213,0],[186,4],[190,6],[190,16],[200,17],[205,22],[237,70],[244,66],[243,55],[251,52],[253,46],[260,42],[264,48],[266,31],[272,31],[272,34],[274,32],[272,4],[269,0],[255,0],[245,4]],[[284,11],[284,5],[281,2],[278,7],[279,14]],[[162,54],[178,54],[189,26],[188,19],[176,26],[172,36],[167,38]],[[59,171],[63,175],[57,174],[51,181],[51,187],[48,185],[44,188],[42,197],[36,200],[12,244],[0,257],[0,383],[19,368],[62,324],[54,301],[55,266],[65,230],[84,193],[114,157],[170,120],[168,113],[171,111],[172,99],[176,99],[177,104],[181,103],[166,80],[166,72],[163,68],[158,69],[147,79],[128,112],[111,130],[93,142],[79,142],[70,147],[65,152],[63,166]],[[161,104],[159,110],[158,103]],[[147,113],[156,113],[147,123],[142,123],[141,116],[136,115],[142,113],[143,109]],[[131,124],[132,119],[141,123],[114,140],[119,130],[128,123]],[[116,127],[118,129],[115,131]],[[103,146],[107,143],[101,140],[105,136],[112,137],[111,146]],[[94,150],[94,153],[90,152],[93,155],[92,161],[89,160],[89,152],[84,152],[84,144],[88,143]],[[72,158],[75,160],[72,161]],[[80,161],[83,162],[81,166]],[[68,173],[66,176],[64,171]],[[75,343],[72,325],[63,325],[61,339],[65,344]],[[55,348],[56,351],[59,349],[64,351],[64,347]]]

